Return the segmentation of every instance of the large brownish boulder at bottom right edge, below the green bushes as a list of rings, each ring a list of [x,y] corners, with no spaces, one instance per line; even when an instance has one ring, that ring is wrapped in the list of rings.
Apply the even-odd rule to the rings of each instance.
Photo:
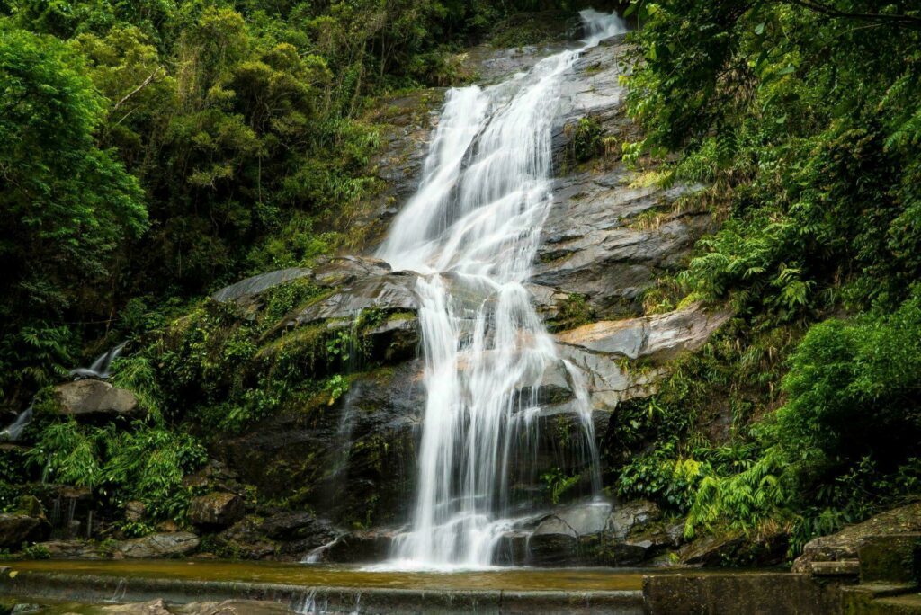
[[[793,571],[808,573],[813,562],[856,560],[858,551],[876,537],[917,532],[921,532],[921,502],[893,508],[836,534],[810,540],[793,563]]]

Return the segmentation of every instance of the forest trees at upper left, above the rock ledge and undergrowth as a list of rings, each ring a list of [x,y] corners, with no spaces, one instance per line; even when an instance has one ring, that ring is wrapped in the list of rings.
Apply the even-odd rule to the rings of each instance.
[[[463,79],[463,45],[567,4],[0,4],[3,403],[140,315],[354,244],[368,104]]]

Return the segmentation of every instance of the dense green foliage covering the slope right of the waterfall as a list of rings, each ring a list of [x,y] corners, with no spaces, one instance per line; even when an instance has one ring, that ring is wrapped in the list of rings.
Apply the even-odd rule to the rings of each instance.
[[[629,108],[646,136],[625,154],[678,152],[663,180],[708,186],[694,198],[725,222],[678,282],[728,301],[742,325],[711,343],[717,365],[690,360],[690,389],[674,395],[679,373],[653,401],[666,417],[712,410],[730,368],[732,439],[663,419],[667,447],[629,463],[622,489],[690,510],[689,531],[793,523],[797,546],[918,492],[921,11],[863,0],[632,10]],[[772,342],[781,331],[807,332]],[[772,368],[746,369],[768,349]]]

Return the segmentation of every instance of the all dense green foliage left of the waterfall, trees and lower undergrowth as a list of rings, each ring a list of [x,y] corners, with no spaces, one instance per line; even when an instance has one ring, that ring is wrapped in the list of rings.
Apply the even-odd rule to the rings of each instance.
[[[0,463],[0,505],[41,480],[91,488],[106,514],[139,500],[181,519],[200,442],[342,396],[369,352],[355,331],[270,331],[315,287],[287,284],[243,321],[201,298],[358,245],[380,187],[375,102],[470,78],[472,43],[559,37],[581,4],[0,2],[0,411],[129,339],[111,382],[144,414],[78,424],[44,389],[28,458]]]

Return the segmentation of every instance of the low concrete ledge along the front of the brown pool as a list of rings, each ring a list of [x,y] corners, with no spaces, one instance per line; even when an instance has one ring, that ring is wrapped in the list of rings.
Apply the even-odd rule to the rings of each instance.
[[[190,581],[169,578],[119,578],[104,574],[15,572],[0,569],[0,594],[90,604],[143,602],[163,598],[172,604],[197,601],[270,600],[293,608],[310,605],[353,613],[579,613],[642,615],[639,591],[415,590],[305,587],[272,583]],[[312,610],[312,609],[311,609]]]

